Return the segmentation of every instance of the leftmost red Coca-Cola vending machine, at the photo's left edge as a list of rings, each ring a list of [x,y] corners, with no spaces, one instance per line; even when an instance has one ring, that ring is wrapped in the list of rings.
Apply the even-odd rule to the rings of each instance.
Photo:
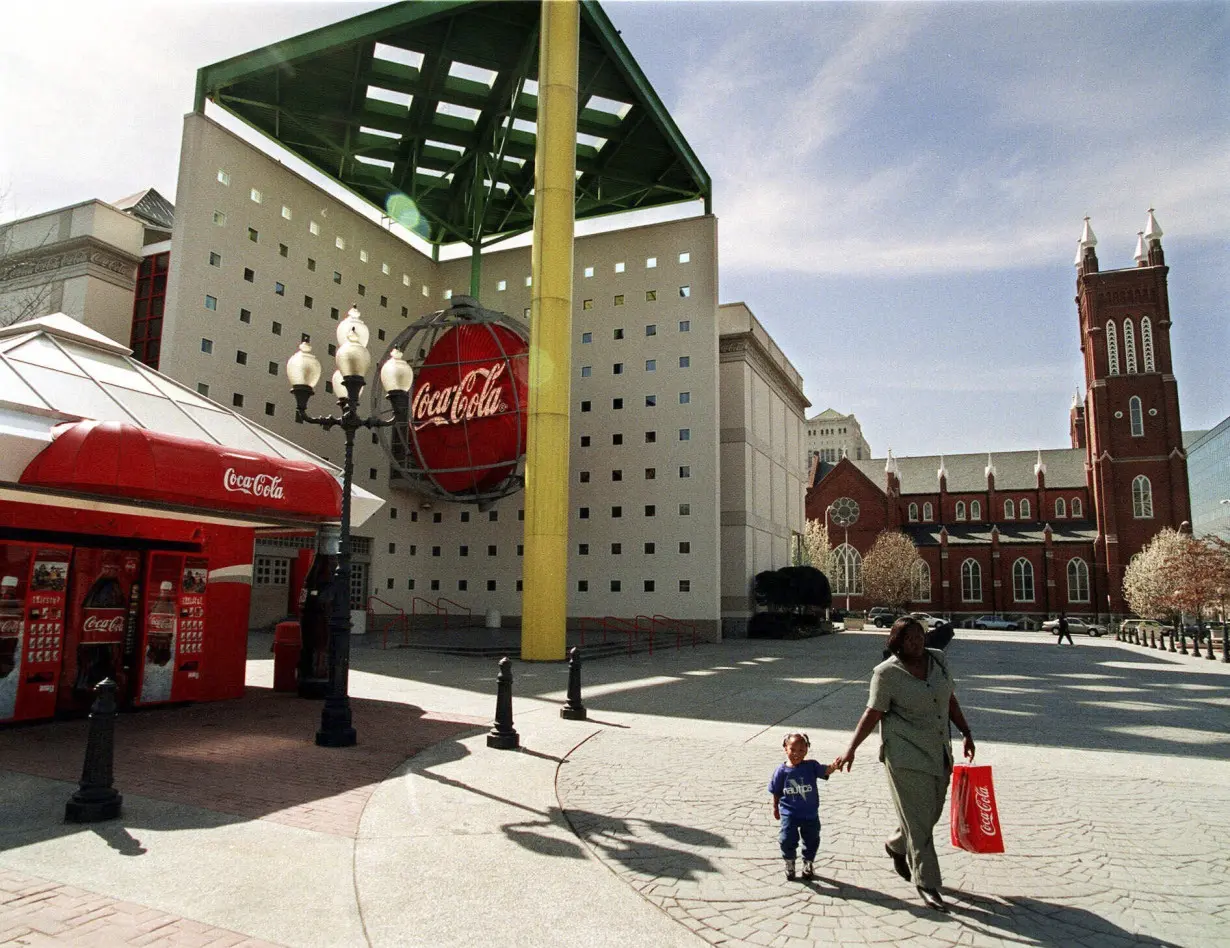
[[[69,553],[64,546],[0,543],[0,722],[55,712]]]

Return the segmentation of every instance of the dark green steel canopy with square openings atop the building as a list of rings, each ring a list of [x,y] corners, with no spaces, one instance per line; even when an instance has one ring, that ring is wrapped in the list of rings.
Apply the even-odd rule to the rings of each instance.
[[[205,100],[432,243],[533,227],[534,0],[392,4],[197,73]],[[597,0],[581,0],[577,218],[711,182]]]

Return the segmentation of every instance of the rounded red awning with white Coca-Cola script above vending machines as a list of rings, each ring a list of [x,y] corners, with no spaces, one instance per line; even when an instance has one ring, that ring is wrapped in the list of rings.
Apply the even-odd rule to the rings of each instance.
[[[310,461],[116,422],[63,424],[54,439],[26,466],[21,483],[294,520],[342,515],[341,484]]]

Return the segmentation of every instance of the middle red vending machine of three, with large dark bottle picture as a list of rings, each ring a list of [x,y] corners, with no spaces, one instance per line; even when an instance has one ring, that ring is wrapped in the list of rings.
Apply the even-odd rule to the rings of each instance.
[[[68,628],[57,706],[84,711],[105,677],[118,685],[121,703],[133,695],[139,622],[141,553],[135,550],[73,551]]]

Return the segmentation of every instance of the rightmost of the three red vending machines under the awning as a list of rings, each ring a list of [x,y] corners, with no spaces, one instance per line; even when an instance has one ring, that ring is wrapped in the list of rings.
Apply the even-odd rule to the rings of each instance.
[[[134,701],[159,705],[200,695],[205,593],[209,563],[181,553],[149,555],[145,571],[145,634]]]

